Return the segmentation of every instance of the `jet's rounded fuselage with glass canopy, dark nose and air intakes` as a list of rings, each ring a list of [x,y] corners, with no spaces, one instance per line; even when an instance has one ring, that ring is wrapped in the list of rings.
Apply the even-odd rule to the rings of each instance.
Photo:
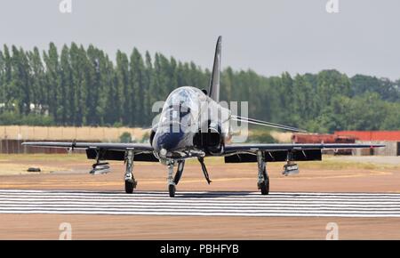
[[[167,98],[150,143],[161,161],[219,155],[230,137],[230,110],[195,87]]]

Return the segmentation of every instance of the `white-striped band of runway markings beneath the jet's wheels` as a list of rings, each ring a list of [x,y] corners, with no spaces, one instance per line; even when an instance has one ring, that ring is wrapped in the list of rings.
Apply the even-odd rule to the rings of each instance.
[[[400,194],[0,190],[0,214],[400,217]]]

